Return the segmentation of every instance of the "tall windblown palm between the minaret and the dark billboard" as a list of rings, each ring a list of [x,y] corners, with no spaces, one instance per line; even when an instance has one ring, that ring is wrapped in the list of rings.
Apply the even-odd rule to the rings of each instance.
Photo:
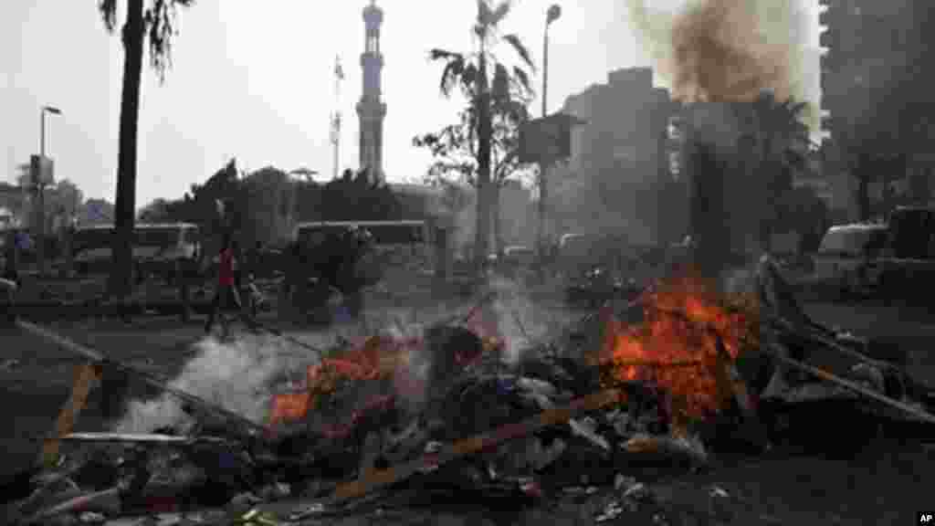
[[[523,66],[535,69],[529,51],[516,35],[501,35],[500,22],[510,14],[511,0],[477,0],[477,19],[473,26],[475,49],[454,52],[434,49],[430,52],[433,61],[445,64],[441,72],[440,89],[444,96],[451,96],[455,87],[468,97],[471,108],[471,132],[478,138],[478,199],[477,228],[475,229],[474,269],[481,275],[483,263],[489,252],[491,220],[491,143],[494,135],[492,114],[495,108],[506,109],[515,104],[517,93],[531,94],[529,75],[522,66],[509,67],[493,52],[496,45],[507,42],[519,55]]]

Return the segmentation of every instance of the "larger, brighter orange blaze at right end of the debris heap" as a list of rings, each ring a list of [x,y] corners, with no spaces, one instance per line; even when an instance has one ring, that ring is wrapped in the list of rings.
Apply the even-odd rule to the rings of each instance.
[[[727,396],[718,338],[736,359],[755,333],[755,310],[732,305],[698,277],[672,279],[640,299],[643,323],[607,320],[601,361],[618,380],[654,383],[689,416],[717,412]]]

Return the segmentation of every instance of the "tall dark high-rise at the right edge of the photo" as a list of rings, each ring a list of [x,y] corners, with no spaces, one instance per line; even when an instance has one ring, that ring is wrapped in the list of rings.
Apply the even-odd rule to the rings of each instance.
[[[891,180],[884,184],[909,181],[903,186],[913,188],[913,197],[927,200],[935,169],[929,146],[935,134],[931,3],[820,1],[821,45],[827,50],[821,57],[827,110],[822,127],[838,150],[841,169],[854,168],[856,153],[904,156],[905,165],[896,161],[886,170]]]

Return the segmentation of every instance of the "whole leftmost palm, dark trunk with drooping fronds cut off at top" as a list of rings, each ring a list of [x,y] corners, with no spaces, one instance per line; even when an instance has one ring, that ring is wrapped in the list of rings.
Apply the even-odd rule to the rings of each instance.
[[[137,121],[139,119],[139,83],[143,69],[143,51],[149,42],[150,64],[160,82],[172,64],[172,37],[178,30],[175,24],[177,8],[189,7],[194,0],[127,0],[126,20],[123,22],[123,88],[120,109],[120,149],[117,154],[117,197],[114,223],[113,257],[116,269],[110,289],[125,295],[130,290],[133,268],[134,216],[137,198]],[[117,27],[117,0],[99,0],[97,9],[108,33]]]

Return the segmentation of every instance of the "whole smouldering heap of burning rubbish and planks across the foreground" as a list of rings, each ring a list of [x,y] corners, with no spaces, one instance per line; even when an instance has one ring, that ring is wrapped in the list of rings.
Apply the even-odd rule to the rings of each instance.
[[[451,496],[525,505],[572,494],[602,499],[597,522],[674,520],[689,512],[667,508],[656,483],[712,466],[712,451],[736,444],[725,437],[781,445],[778,416],[816,386],[825,401],[846,391],[844,402],[856,393],[913,424],[935,421],[896,365],[809,322],[769,261],[759,278],[755,298],[697,277],[654,285],[620,312],[605,309],[603,342],[583,360],[550,345],[507,359],[496,324],[474,315],[290,364],[205,343],[170,386],[198,397],[134,402],[117,432],[65,435],[55,467],[23,475],[28,490],[17,498],[8,486],[7,499],[24,524],[212,506],[224,511],[202,522],[295,523]],[[803,349],[859,366],[830,373]],[[710,509],[694,519],[730,506],[724,489],[704,493]]]

